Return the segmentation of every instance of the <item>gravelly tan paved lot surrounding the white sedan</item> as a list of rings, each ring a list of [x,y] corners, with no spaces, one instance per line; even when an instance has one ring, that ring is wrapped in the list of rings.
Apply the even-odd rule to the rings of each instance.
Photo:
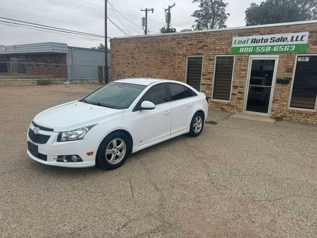
[[[114,171],[31,160],[33,117],[97,87],[0,87],[1,237],[317,237],[317,126],[211,111]]]

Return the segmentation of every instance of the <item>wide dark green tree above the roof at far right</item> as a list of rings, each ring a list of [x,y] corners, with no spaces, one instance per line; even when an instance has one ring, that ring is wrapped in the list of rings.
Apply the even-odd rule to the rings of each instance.
[[[245,11],[246,25],[263,25],[317,19],[317,0],[265,0]]]

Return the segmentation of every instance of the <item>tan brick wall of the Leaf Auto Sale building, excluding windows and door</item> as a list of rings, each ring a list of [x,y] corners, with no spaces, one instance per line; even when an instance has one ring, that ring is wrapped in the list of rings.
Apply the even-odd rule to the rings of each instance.
[[[232,37],[309,31],[305,54],[317,54],[317,23],[110,40],[111,79],[154,77],[185,81],[186,57],[202,55],[201,91],[211,97],[215,55],[231,55]],[[189,36],[188,39],[183,36]],[[279,54],[276,78],[292,78],[296,54]],[[236,55],[230,102],[211,101],[214,110],[242,113],[249,55]],[[276,84],[270,117],[317,124],[317,112],[288,109],[289,84]]]

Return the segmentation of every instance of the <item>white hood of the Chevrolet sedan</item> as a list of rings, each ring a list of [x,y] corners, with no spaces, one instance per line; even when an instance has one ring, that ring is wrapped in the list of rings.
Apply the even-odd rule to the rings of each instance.
[[[114,118],[123,112],[124,110],[73,101],[39,113],[34,122],[53,128],[54,132],[70,131]]]

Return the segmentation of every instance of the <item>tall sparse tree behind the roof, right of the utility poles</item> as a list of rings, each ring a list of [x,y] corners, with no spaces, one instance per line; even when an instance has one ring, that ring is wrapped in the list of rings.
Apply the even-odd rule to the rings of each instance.
[[[229,3],[225,0],[193,0],[199,2],[198,10],[194,11],[192,16],[196,17],[195,30],[225,28],[229,13],[226,13],[226,7]]]

